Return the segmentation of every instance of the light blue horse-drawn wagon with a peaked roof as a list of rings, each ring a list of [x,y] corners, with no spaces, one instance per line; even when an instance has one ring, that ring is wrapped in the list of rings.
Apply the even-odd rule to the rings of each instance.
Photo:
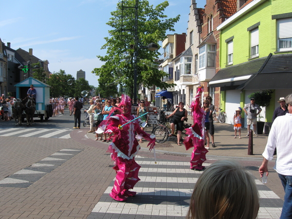
[[[27,91],[30,88],[30,85],[34,85],[34,89],[37,91],[35,103],[31,103],[30,98],[27,97]],[[53,115],[52,104],[50,104],[50,85],[29,77],[15,86],[16,98],[22,101],[24,107],[21,116],[22,122],[24,121],[24,118],[26,118],[26,111],[30,111],[29,114],[33,117],[39,117],[41,122],[44,118],[45,120],[48,120],[50,116]]]

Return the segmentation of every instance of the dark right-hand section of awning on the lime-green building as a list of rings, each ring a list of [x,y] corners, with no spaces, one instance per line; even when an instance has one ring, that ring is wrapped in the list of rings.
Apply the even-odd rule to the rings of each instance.
[[[269,55],[266,64],[238,90],[291,89],[292,54]]]

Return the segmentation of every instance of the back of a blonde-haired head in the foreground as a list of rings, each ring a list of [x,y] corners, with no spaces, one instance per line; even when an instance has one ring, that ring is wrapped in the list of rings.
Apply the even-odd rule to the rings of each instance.
[[[258,209],[251,175],[235,161],[218,161],[196,183],[186,218],[255,219]]]

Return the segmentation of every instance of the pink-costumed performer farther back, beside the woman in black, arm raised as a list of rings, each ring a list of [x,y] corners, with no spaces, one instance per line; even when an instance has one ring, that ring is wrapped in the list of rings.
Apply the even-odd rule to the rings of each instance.
[[[192,115],[194,125],[186,129],[188,137],[184,139],[184,146],[188,150],[194,146],[194,150],[191,158],[191,169],[203,170],[205,167],[202,165],[206,160],[206,153],[208,150],[205,148],[205,112],[200,106],[200,96],[203,91],[202,87],[199,87],[196,97],[191,104]]]

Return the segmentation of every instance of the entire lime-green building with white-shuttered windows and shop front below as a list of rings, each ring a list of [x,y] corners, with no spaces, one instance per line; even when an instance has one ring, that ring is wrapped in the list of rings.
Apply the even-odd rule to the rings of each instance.
[[[261,121],[271,123],[274,109],[279,107],[279,95],[291,93],[285,78],[292,79],[292,65],[283,68],[292,57],[291,9],[290,0],[253,0],[218,26],[220,71],[210,84],[221,89],[221,108],[227,113],[228,123],[233,123],[234,109],[229,109],[235,106],[235,96],[236,105],[243,107],[249,103],[247,95],[251,92],[272,90],[273,101],[261,113]],[[271,78],[259,80],[260,75]]]

